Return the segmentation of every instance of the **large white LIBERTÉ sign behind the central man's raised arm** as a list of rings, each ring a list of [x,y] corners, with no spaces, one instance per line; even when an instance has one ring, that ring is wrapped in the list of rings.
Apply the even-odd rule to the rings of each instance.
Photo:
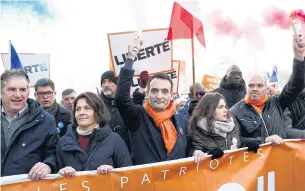
[[[167,38],[168,29],[144,30],[142,32],[143,45],[133,67],[135,76],[139,76],[144,70],[149,74],[167,72],[172,66],[172,43]],[[124,66],[128,51],[128,44],[136,37],[136,31],[109,33],[108,43],[110,62],[114,73],[118,76],[121,67]]]

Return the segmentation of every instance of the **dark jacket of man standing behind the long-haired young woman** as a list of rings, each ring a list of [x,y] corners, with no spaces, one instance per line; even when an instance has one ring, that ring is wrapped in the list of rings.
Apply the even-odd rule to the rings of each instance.
[[[229,84],[226,76],[222,78],[219,88],[214,89],[212,92],[217,92],[223,95],[223,97],[226,98],[229,108],[242,100],[247,94],[244,80],[242,80],[242,83],[239,86],[236,86]]]

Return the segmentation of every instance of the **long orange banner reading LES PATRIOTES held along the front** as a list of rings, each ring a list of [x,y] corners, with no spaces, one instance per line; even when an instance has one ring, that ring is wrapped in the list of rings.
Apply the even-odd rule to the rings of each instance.
[[[108,175],[90,171],[73,179],[26,177],[2,177],[2,191],[304,191],[305,140],[261,146],[257,153],[229,151],[199,164],[186,158],[114,169]]]

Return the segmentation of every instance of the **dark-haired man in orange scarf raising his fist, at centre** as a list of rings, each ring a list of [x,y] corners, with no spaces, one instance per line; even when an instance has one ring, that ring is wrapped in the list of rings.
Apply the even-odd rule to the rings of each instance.
[[[130,98],[134,70],[133,61],[141,47],[138,38],[128,47],[128,58],[121,68],[115,99],[117,108],[130,132],[133,164],[147,164],[187,157],[187,121],[175,113],[172,100],[173,82],[165,73],[157,73],[148,81],[148,99],[135,105]],[[195,161],[205,158],[194,152]]]

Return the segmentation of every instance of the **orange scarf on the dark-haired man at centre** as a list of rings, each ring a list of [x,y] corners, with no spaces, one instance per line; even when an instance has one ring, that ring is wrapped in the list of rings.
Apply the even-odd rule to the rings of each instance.
[[[174,102],[171,101],[168,108],[164,111],[155,111],[148,103],[148,101],[143,104],[143,107],[147,114],[153,118],[155,124],[160,128],[165,148],[167,150],[167,155],[169,155],[177,141],[176,128],[170,121],[170,118],[175,113]]]

